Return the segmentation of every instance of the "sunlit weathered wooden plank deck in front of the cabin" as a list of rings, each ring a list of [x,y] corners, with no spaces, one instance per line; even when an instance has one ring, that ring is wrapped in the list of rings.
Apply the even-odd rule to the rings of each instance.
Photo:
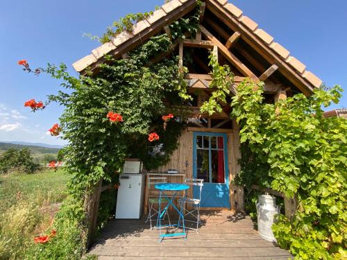
[[[158,243],[159,231],[150,231],[144,219],[112,220],[89,254],[96,254],[101,260],[291,258],[286,250],[261,239],[249,216],[232,211],[201,213],[203,225],[198,233],[189,230],[187,240],[164,239],[162,243]]]

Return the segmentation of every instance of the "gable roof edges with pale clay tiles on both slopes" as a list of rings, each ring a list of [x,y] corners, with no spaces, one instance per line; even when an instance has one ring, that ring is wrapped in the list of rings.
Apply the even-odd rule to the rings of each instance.
[[[301,90],[305,94],[310,94],[314,87],[321,86],[322,81],[312,72],[307,71],[305,64],[289,55],[289,51],[285,47],[275,42],[273,37],[264,30],[258,28],[258,24],[243,15],[242,10],[232,3],[228,3],[228,0],[206,0],[205,2],[209,10],[218,13],[221,20],[230,28],[236,28],[241,33],[242,39],[260,51],[266,60],[271,64],[277,64],[281,73],[301,85]],[[193,10],[195,3],[195,0],[172,0],[165,3],[149,18],[135,24],[131,33],[120,33],[113,37],[111,42],[102,44],[92,50],[90,55],[74,62],[74,69],[83,73],[87,67],[91,69],[98,67],[98,64],[104,61],[105,54],[120,56],[122,53],[126,53],[144,40],[159,33],[163,26],[171,24]]]

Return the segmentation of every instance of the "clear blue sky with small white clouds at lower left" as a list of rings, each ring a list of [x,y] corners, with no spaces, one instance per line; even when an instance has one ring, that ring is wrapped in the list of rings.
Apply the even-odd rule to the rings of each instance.
[[[347,1],[235,0],[230,1],[291,51],[328,86],[347,86]],[[32,113],[24,101],[44,101],[59,89],[56,80],[27,74],[17,65],[28,60],[31,67],[46,62],[71,64],[99,46],[82,37],[101,35],[112,21],[129,12],[154,10],[164,0],[117,1],[1,1],[0,2],[0,141],[33,141],[65,144],[47,135],[58,122],[62,107],[49,105]],[[339,105],[347,107],[347,94]]]

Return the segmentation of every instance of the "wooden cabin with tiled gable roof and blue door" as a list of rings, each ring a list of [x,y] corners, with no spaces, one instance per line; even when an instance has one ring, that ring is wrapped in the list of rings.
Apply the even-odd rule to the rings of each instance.
[[[106,54],[124,58],[128,51],[153,35],[167,33],[171,37],[169,24],[192,15],[195,8],[196,0],[169,1],[149,18],[135,24],[131,33],[120,33],[73,66],[81,74],[87,68],[96,71],[99,64],[105,62]],[[242,211],[243,189],[232,184],[232,179],[240,171],[238,160],[241,157],[239,128],[230,118],[232,108],[224,105],[221,113],[194,117],[200,113],[203,101],[213,92],[209,88],[212,78],[208,50],[212,49],[217,55],[219,64],[230,66],[235,74],[235,86],[246,77],[264,81],[266,102],[276,102],[297,93],[308,96],[314,88],[320,87],[321,80],[228,0],[205,0],[199,8],[200,31],[194,39],[176,40],[173,45],[174,52],[180,55],[180,65],[189,69],[187,82],[194,100],[186,108],[191,118],[170,162],[151,174],[162,175],[168,169],[176,169],[179,175],[169,175],[169,180],[178,182],[184,177],[203,178],[202,208]],[[192,53],[193,49],[193,61],[185,64],[185,53]],[[232,94],[236,93],[235,86],[231,87]]]

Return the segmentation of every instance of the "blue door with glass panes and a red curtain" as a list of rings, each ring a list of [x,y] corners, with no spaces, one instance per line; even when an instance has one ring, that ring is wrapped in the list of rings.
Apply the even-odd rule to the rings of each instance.
[[[193,138],[193,176],[204,180],[201,207],[230,209],[226,134],[194,132]],[[194,187],[194,198],[198,193],[198,187]]]

